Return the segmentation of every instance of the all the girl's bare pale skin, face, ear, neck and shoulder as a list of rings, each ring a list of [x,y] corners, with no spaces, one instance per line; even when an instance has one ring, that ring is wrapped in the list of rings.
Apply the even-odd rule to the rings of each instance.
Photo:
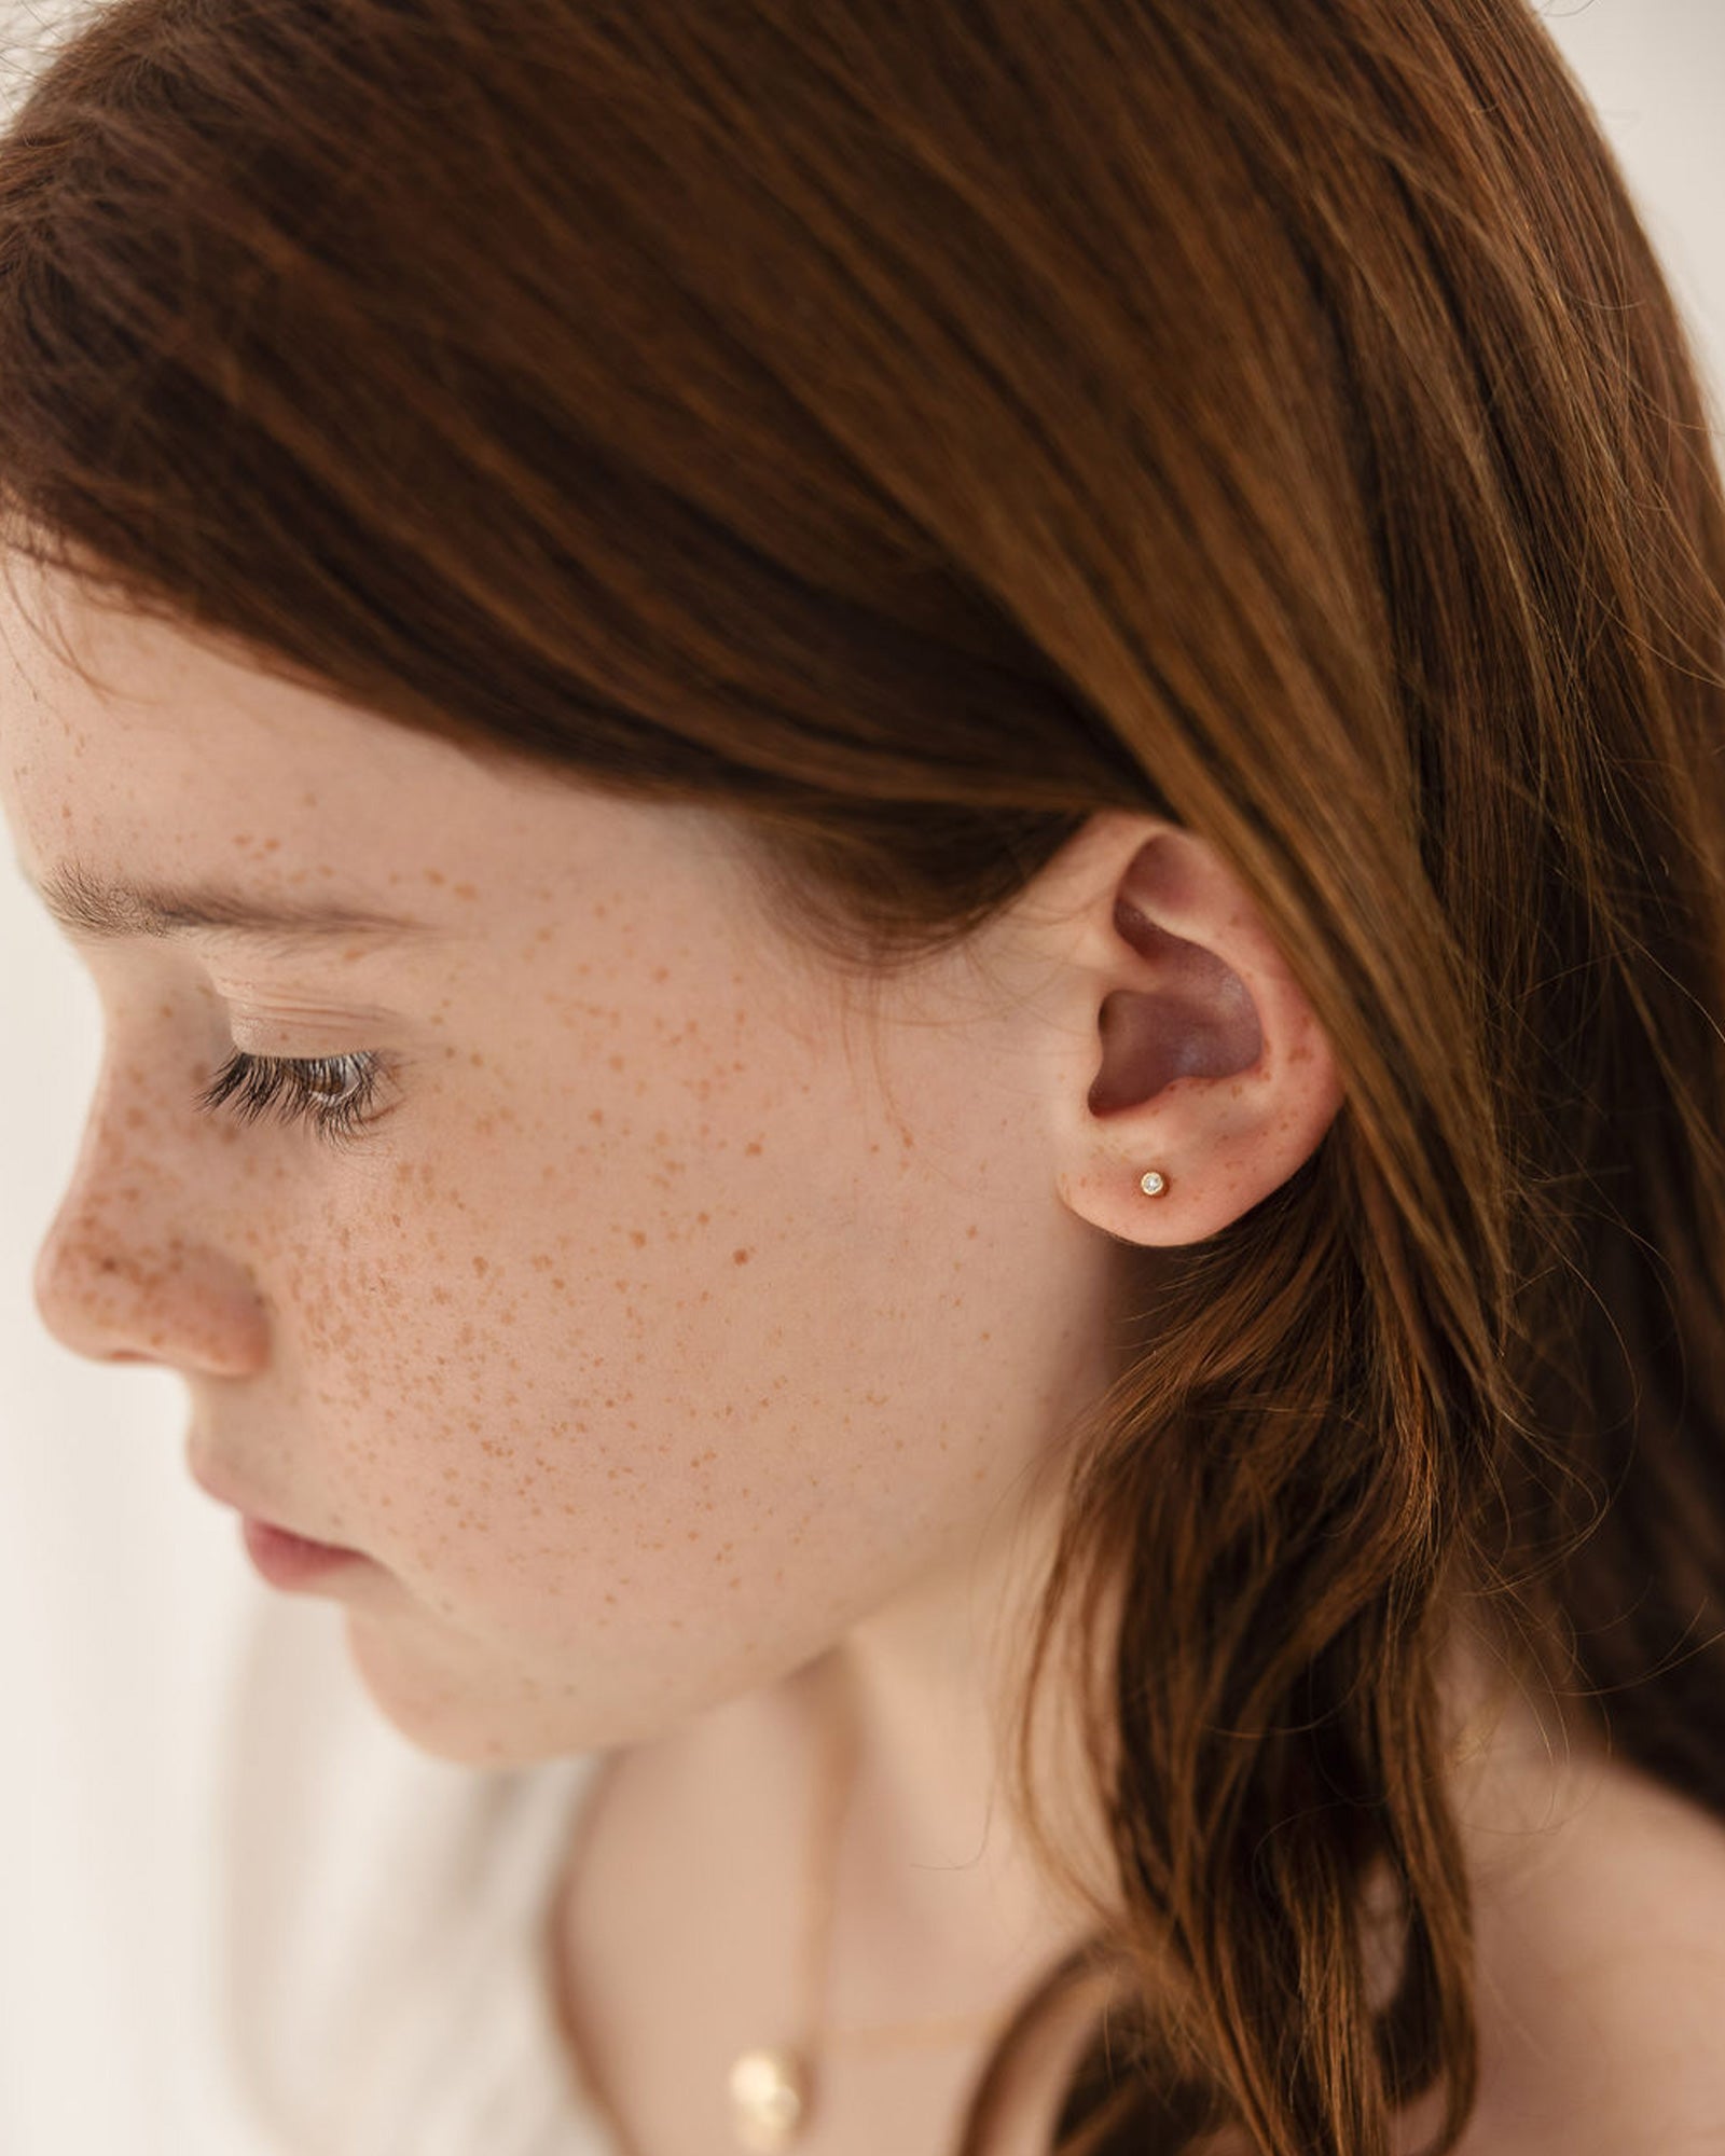
[[[188,1466],[224,1501],[364,1552],[326,1591],[414,1744],[615,1755],[548,1915],[643,2156],[727,2145],[724,2065],[796,2012],[841,1701],[830,2020],[1007,2005],[1087,1927],[1003,1800],[1000,1643],[1052,1548],[1065,1421],[1113,1376],[1123,1250],[1223,1229],[1343,1097],[1244,886],[1104,813],[865,998],[761,918],[718,813],[494,768],[54,599],[97,681],[0,593],[30,882],[420,927],[265,946],[136,914],[97,936],[86,910],[106,1061],[45,1324],[179,1371]],[[201,1110],[233,1050],[384,1059],[382,1112],[336,1145]],[[1466,2156],[1725,2143],[1725,1830],[1613,1761],[1552,1764],[1524,1710],[1492,1727],[1458,1779],[1488,2065]],[[979,2059],[839,2061],[800,2147],[936,2156]],[[998,2156],[1046,2141],[1057,2063]]]

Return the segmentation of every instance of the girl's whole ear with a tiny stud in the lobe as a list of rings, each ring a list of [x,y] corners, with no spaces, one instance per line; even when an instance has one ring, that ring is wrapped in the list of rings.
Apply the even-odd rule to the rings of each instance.
[[[1220,854],[1162,817],[1098,813],[1033,890],[1057,959],[1041,998],[1059,1020],[1063,1203],[1134,1244],[1218,1233],[1311,1158],[1341,1106],[1305,992]]]

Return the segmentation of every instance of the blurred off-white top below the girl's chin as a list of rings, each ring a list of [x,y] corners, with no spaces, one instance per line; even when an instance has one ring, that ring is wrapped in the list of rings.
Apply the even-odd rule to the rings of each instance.
[[[546,1923],[604,1753],[416,1751],[339,1604],[270,1595],[237,1660],[218,2014],[282,2156],[615,2156],[558,2042]]]

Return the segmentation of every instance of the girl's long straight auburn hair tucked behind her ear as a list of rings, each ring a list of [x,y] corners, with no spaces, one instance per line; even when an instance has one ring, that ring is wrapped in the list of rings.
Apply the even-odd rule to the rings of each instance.
[[[1098,1968],[1070,2156],[1453,2145],[1458,1613],[1725,1813],[1714,427],[1522,0],[116,0],[0,144],[13,550],[862,975],[1164,815],[1328,1033],[1080,1425],[1106,1955],[968,2156]]]

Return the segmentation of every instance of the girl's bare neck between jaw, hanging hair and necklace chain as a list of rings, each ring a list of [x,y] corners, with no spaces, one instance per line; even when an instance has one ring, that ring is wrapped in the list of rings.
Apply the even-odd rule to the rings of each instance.
[[[796,1899],[804,1884],[832,1897],[822,2018],[834,2031],[998,2009],[1091,1930],[1089,1912],[1031,1863],[1009,1777],[1022,1654],[1057,1524],[1052,1501],[1018,1511],[949,1574],[925,1576],[783,1684],[681,1733],[694,1746],[688,1785],[735,1787],[737,1815],[763,1830],[772,1764],[783,1794],[770,1802],[772,1830]],[[1089,1785],[1072,1738],[1039,1729],[1033,1759],[1044,1792]],[[819,1841],[834,1796],[837,1848]],[[1076,1826],[1063,1809],[1063,1839]],[[1100,1865],[1100,1833],[1093,1856]],[[1089,1876],[1106,1876],[1095,1865]],[[800,1945],[800,1934],[783,1938],[787,1966]]]

